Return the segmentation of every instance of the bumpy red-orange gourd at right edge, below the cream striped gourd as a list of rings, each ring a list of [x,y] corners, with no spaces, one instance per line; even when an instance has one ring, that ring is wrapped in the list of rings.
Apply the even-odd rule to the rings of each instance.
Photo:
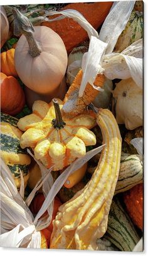
[[[143,230],[143,211],[144,211],[144,184],[135,185],[123,194],[123,200],[127,213],[134,224]]]

